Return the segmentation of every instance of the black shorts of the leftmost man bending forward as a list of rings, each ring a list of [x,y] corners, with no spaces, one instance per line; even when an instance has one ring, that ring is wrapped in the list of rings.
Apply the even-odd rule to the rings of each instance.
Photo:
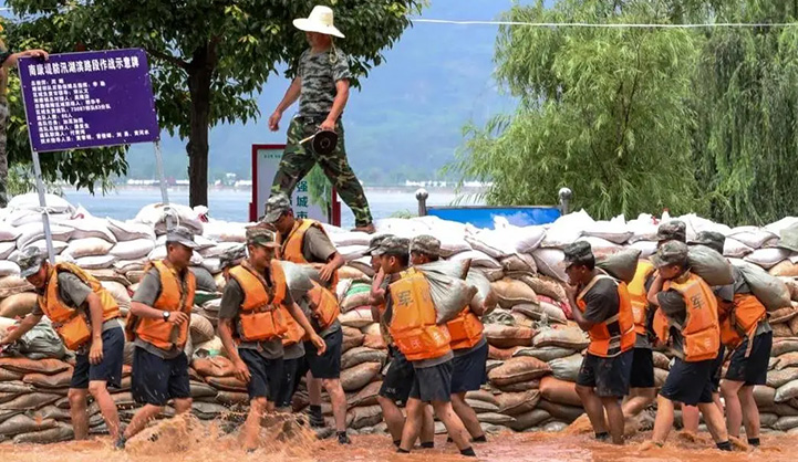
[[[124,363],[125,333],[114,327],[103,333],[103,360],[100,364],[89,361],[89,353],[77,355],[75,370],[72,372],[70,388],[86,389],[90,381],[102,380],[110,387],[122,387],[122,365]]]

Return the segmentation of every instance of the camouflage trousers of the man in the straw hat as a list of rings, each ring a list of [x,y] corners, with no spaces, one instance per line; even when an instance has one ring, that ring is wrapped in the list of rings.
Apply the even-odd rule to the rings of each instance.
[[[320,156],[313,150],[310,141],[304,145],[299,144],[300,140],[313,135],[318,126],[319,123],[302,117],[291,120],[286,151],[282,154],[280,168],[271,185],[271,192],[284,192],[290,197],[297,183],[310,172],[315,164],[319,164],[338,195],[352,209],[355,225],[365,227],[372,222],[371,210],[363,187],[346,160],[341,120],[339,119],[335,124],[338,146],[332,154]]]

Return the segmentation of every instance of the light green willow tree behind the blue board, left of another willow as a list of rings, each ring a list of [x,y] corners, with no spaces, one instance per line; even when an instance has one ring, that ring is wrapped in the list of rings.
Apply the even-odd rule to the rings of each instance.
[[[657,10],[659,8],[659,10]],[[516,6],[508,21],[651,22],[662,3],[564,0]],[[520,103],[466,128],[455,164],[493,181],[495,204],[556,203],[560,187],[593,217],[703,212],[684,104],[703,38],[685,30],[502,27],[497,77]]]

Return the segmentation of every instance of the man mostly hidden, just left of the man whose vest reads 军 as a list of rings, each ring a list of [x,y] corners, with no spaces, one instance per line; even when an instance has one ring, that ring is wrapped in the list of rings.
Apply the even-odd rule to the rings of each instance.
[[[382,251],[380,245],[388,238],[394,238],[394,235],[383,234],[373,238],[369,243],[369,249],[366,249],[365,254],[371,255],[371,266],[375,272],[371,291],[371,314],[374,322],[380,323],[380,332],[382,333],[385,345],[387,345],[388,351],[387,364],[383,369],[382,386],[380,387],[380,395],[376,400],[380,408],[382,408],[382,414],[388,432],[393,438],[394,445],[398,448],[400,444],[402,444],[402,431],[405,423],[405,417],[400,406],[404,407],[407,405],[411,388],[413,388],[415,369],[391,338],[387,321],[384,316],[386,311],[385,290],[388,286],[390,280],[385,277],[385,272],[382,271],[382,262],[380,261]],[[429,406],[424,407],[421,443],[424,449],[435,448],[435,421],[433,419],[433,410]]]

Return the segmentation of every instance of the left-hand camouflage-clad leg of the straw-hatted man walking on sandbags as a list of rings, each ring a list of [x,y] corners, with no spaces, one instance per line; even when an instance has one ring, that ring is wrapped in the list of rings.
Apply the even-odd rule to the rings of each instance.
[[[310,151],[310,146],[305,147],[300,145],[299,141],[314,133],[315,127],[313,124],[304,124],[299,118],[291,120],[291,125],[288,127],[286,150],[282,154],[282,159],[280,159],[280,168],[277,170],[274,181],[271,183],[272,195],[284,192],[290,197],[297,183],[313,168],[315,159]]]

